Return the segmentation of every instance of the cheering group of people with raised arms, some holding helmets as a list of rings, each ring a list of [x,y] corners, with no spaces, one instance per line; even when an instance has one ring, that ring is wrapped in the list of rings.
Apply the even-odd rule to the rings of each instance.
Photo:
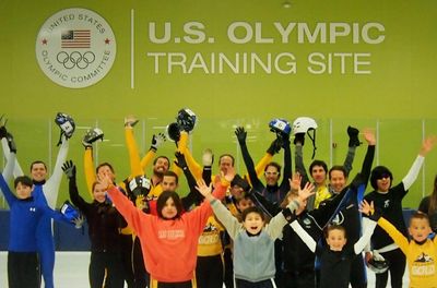
[[[323,160],[304,161],[306,137],[317,123],[308,117],[293,124],[285,119],[269,123],[274,139],[255,164],[238,127],[236,139],[247,173],[235,171],[231,154],[218,157],[205,149],[199,164],[188,149],[197,116],[178,111],[176,122],[153,135],[141,157],[134,140],[134,117],[125,118],[130,175],[117,182],[111,164],[94,167],[93,145],[103,131],[91,129],[82,140],[87,202],[78,189],[78,167],[67,160],[74,120],[58,113],[60,149],[51,177],[34,161],[31,177],[16,160],[13,136],[0,119],[0,139],[7,165],[0,189],[11,209],[8,254],[9,287],[54,287],[55,248],[51,218],[79,227],[86,219],[91,239],[91,287],[121,288],[271,288],[367,287],[366,265],[376,273],[376,287],[402,287],[408,263],[410,287],[435,287],[437,272],[437,177],[434,192],[424,199],[409,227],[402,215],[406,195],[436,137],[427,137],[399,184],[385,166],[374,169],[376,137],[362,135],[367,152],[359,172],[349,182],[359,131],[347,128],[349,148],[343,165],[328,169]],[[312,131],[312,136],[311,136]],[[174,165],[156,156],[166,137],[176,143]],[[294,157],[292,157],[292,141]],[[283,165],[273,156],[283,149]],[[292,158],[295,160],[294,171]],[[152,167],[152,173],[145,171]],[[70,201],[56,211],[62,173],[69,180]],[[179,192],[184,173],[188,193]],[[280,182],[282,176],[282,181]],[[14,178],[15,194],[8,183]],[[370,181],[373,191],[365,194]],[[82,192],[83,193],[83,192]],[[184,195],[184,196],[182,196]],[[80,214],[75,209],[80,211]],[[363,252],[365,251],[365,252]]]

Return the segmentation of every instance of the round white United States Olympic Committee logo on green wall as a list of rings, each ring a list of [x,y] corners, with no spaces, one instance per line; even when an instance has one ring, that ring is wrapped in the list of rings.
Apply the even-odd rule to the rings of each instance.
[[[116,38],[97,13],[82,8],[51,15],[36,38],[36,59],[55,83],[83,88],[101,81],[116,59]]]

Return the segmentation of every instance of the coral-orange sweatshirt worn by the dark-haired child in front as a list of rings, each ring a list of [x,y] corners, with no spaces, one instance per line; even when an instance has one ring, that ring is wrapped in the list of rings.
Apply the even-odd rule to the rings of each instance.
[[[226,185],[217,184],[213,194],[222,199]],[[208,201],[180,218],[166,220],[133,206],[116,187],[108,194],[118,212],[140,238],[144,264],[153,279],[165,283],[191,280],[194,276],[198,241],[212,208]]]

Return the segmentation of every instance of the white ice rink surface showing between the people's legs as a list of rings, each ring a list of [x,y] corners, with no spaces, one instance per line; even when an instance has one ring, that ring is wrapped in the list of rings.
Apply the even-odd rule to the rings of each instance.
[[[0,252],[0,287],[8,287],[8,252]],[[90,252],[56,252],[55,287],[86,288],[88,285]],[[367,272],[369,288],[375,287],[375,274]],[[389,279],[390,283],[390,279]],[[42,286],[44,287],[44,286]],[[127,286],[126,286],[127,287]],[[391,287],[388,285],[387,287]],[[409,287],[408,272],[403,287]]]

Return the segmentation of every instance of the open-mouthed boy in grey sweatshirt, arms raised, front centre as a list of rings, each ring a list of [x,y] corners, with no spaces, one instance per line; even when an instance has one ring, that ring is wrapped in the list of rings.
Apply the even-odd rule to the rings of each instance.
[[[234,240],[234,275],[236,287],[275,287],[274,241],[281,236],[286,218],[297,209],[307,197],[312,184],[307,184],[282,213],[265,225],[265,216],[258,207],[248,207],[241,213],[239,223],[228,209],[211,193],[202,193],[210,201],[217,219],[223,224]]]

